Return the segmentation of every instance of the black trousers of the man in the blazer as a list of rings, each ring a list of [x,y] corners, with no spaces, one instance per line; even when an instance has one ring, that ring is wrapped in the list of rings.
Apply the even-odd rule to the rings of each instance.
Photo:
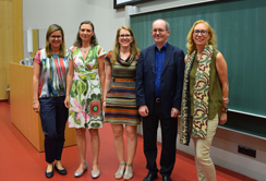
[[[160,174],[170,176],[176,162],[176,145],[178,133],[178,118],[166,118],[161,105],[155,102],[150,116],[143,118],[144,154],[147,160],[146,168],[149,173],[158,172],[156,165],[157,157],[157,129],[158,122],[161,125],[161,155]]]

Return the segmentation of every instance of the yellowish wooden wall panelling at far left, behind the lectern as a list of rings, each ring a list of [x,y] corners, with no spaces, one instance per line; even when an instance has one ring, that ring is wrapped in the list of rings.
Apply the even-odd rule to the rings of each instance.
[[[0,0],[0,100],[8,99],[9,62],[23,59],[22,0]],[[15,31],[13,31],[15,29]]]

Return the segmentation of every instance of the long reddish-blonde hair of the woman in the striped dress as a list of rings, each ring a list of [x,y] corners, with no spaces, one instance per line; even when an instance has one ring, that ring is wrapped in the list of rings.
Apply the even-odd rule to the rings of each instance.
[[[113,46],[112,57],[111,57],[111,63],[112,64],[116,62],[117,57],[118,57],[119,51],[120,51],[119,33],[120,33],[121,29],[129,31],[130,32],[130,35],[133,38],[133,40],[132,40],[132,43],[130,45],[130,52],[131,52],[131,55],[132,56],[136,56],[137,52],[140,52],[140,49],[137,48],[136,40],[135,40],[135,37],[134,37],[134,34],[133,34],[132,29],[129,26],[123,25],[123,26],[119,27],[118,31],[117,31],[116,43],[114,43],[114,46]]]

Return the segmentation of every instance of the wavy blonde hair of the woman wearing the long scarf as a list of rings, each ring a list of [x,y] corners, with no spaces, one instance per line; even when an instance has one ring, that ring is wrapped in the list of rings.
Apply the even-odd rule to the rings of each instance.
[[[210,25],[208,24],[208,22],[205,22],[204,20],[198,20],[196,21],[193,26],[191,27],[189,35],[186,37],[188,44],[186,44],[186,48],[188,48],[188,52],[192,53],[195,49],[196,49],[196,45],[193,40],[193,31],[195,28],[195,26],[200,23],[204,23],[207,26],[207,31],[210,35],[210,38],[208,40],[208,45],[213,45],[215,48],[217,47],[216,45],[216,37],[215,37],[215,31],[210,27]]]

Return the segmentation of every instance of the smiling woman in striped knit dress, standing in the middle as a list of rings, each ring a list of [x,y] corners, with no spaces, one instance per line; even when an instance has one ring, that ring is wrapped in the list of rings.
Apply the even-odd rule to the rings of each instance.
[[[140,50],[132,29],[121,26],[117,31],[114,48],[106,55],[106,83],[102,107],[105,122],[110,122],[120,167],[116,179],[133,177],[132,162],[136,152],[136,125],[140,124],[135,99],[135,74]],[[128,161],[124,160],[123,124],[128,136]]]

